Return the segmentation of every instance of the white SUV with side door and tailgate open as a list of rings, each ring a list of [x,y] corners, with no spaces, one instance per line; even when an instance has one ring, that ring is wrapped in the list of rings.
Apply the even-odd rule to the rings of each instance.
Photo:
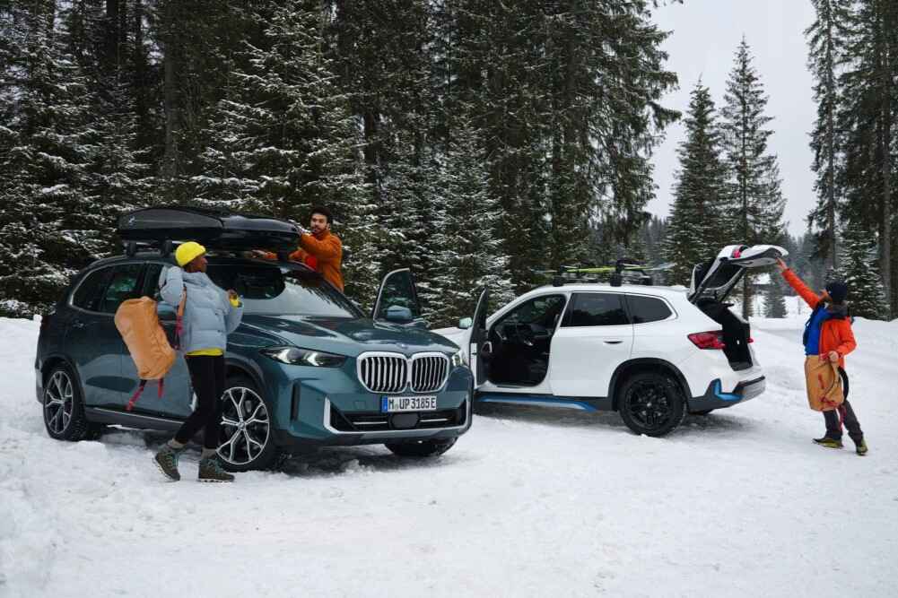
[[[691,287],[557,280],[486,317],[436,330],[462,347],[477,403],[617,410],[637,434],[660,436],[686,412],[706,414],[764,391],[749,325],[724,303],[745,268],[787,251],[731,245],[693,269]]]

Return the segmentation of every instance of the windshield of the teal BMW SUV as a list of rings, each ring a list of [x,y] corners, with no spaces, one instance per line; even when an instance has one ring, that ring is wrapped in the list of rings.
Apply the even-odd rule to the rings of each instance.
[[[217,286],[233,288],[247,314],[364,317],[317,272],[265,264],[209,264],[207,275]]]

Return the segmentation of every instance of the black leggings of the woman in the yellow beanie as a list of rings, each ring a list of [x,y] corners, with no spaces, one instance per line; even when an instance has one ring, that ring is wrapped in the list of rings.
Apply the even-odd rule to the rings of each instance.
[[[190,383],[197,393],[197,409],[190,414],[174,439],[187,444],[203,430],[203,446],[218,448],[218,427],[221,423],[221,396],[225,393],[225,356],[187,356]]]

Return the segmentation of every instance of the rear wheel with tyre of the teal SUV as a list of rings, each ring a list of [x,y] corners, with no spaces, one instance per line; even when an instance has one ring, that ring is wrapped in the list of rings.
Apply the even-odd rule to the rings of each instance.
[[[78,442],[92,431],[84,417],[84,392],[67,365],[56,365],[44,380],[44,427],[51,438]]]

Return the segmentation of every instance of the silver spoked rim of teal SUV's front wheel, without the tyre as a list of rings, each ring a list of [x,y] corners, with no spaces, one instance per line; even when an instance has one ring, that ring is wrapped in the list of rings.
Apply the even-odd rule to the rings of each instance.
[[[218,456],[232,465],[260,457],[269,443],[269,409],[256,391],[233,386],[222,395],[221,444]]]

